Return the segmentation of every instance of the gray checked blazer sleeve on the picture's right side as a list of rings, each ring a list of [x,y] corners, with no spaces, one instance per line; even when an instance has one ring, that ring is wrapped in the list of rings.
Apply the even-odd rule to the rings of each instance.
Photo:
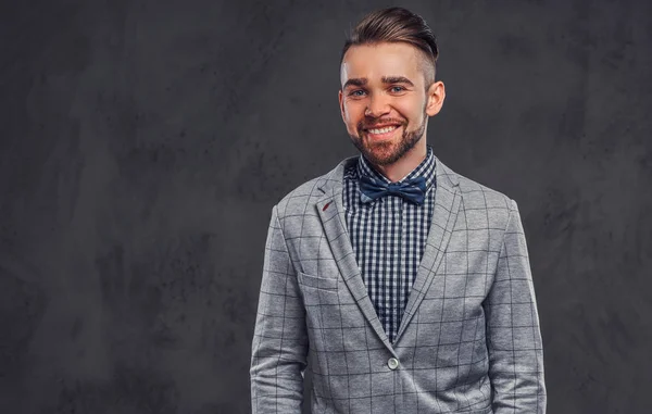
[[[514,200],[510,200],[496,277],[484,306],[493,413],[546,413],[539,315],[525,234]]]

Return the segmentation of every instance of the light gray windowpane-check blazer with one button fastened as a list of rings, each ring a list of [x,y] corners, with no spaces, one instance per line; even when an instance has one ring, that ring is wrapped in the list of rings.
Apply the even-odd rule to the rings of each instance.
[[[344,159],[272,209],[251,359],[253,413],[544,413],[543,352],[516,202],[437,160],[436,206],[397,339],[367,296]],[[310,351],[310,352],[309,352]]]

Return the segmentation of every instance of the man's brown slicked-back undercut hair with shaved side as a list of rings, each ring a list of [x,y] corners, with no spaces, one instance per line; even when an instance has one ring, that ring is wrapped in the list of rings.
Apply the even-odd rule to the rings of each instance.
[[[422,71],[427,90],[437,74],[437,39],[422,16],[403,8],[381,9],[364,16],[344,42],[340,66],[352,46],[401,41],[416,47],[422,52]]]

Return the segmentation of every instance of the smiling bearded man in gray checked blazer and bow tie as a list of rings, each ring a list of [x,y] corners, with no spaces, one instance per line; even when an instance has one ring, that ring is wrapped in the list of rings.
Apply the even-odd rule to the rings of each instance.
[[[359,156],[272,209],[251,360],[254,413],[544,413],[516,202],[426,145],[446,96],[435,37],[400,8],[354,28],[339,102]]]

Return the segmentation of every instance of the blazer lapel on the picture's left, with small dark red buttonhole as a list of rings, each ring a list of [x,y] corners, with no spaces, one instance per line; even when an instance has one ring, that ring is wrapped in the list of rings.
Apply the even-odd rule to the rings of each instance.
[[[333,255],[337,262],[347,287],[351,291],[360,311],[372,325],[374,331],[378,335],[383,343],[393,353],[391,343],[387,334],[380,325],[374,304],[368,297],[366,286],[362,278],[362,273],[355,253],[351,246],[351,239],[347,229],[344,215],[344,206],[342,202],[342,178],[346,166],[353,162],[356,156],[343,160],[335,170],[326,176],[325,181],[319,185],[319,189],[324,191],[324,196],[316,203],[316,209],[324,226],[324,234],[333,251]]]

